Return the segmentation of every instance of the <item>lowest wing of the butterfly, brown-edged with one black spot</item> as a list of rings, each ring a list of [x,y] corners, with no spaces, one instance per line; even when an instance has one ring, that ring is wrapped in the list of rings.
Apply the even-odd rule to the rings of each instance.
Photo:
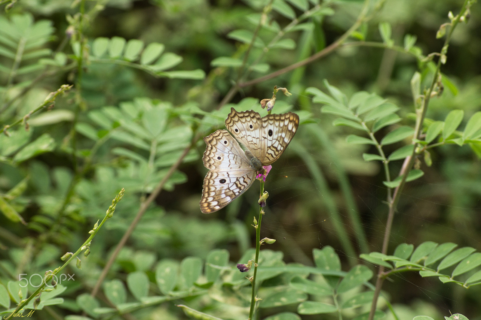
[[[252,168],[213,169],[207,172],[202,190],[202,212],[211,213],[227,206],[249,189],[255,174]]]

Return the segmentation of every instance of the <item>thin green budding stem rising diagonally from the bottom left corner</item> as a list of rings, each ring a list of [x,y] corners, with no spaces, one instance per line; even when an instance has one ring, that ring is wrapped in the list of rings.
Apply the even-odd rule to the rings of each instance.
[[[65,263],[55,269],[54,271],[52,271],[48,276],[45,277],[45,281],[43,282],[42,285],[40,285],[37,290],[35,290],[35,292],[33,294],[31,294],[28,298],[22,300],[17,308],[15,309],[15,311],[12,312],[12,314],[10,316],[8,316],[7,318],[4,318],[4,319],[10,319],[12,317],[13,314],[17,313],[18,311],[20,311],[20,309],[24,308],[29,302],[30,300],[32,300],[35,296],[37,296],[44,288],[45,286],[47,285],[47,283],[49,283],[53,276],[54,275],[57,275],[60,271],[62,271],[66,266],[68,266],[70,264],[70,262],[75,259],[78,254],[80,252],[82,252],[83,250],[87,249],[87,247],[90,245],[90,242],[92,241],[92,239],[95,237],[95,235],[99,232],[101,226],[110,218],[112,218],[112,215],[114,214],[114,211],[115,211],[115,206],[116,204],[122,200],[122,197],[124,196],[124,188],[122,188],[122,190],[119,192],[119,194],[117,195],[117,197],[114,198],[114,200],[112,201],[112,206],[109,207],[109,209],[107,210],[107,212],[105,213],[105,217],[103,217],[102,221],[100,222],[100,224],[91,230],[91,234],[89,236],[89,238],[84,242],[84,244],[82,246],[80,246],[80,248],[77,249],[77,251],[74,253],[74,254],[70,254],[70,258],[67,259],[67,261],[65,261]]]

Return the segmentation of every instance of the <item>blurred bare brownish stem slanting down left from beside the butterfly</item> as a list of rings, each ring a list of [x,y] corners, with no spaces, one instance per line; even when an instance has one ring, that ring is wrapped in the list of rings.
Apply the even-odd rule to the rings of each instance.
[[[97,283],[95,283],[95,286],[94,288],[92,289],[92,292],[90,295],[92,296],[95,296],[97,295],[97,292],[99,291],[100,289],[100,286],[103,282],[103,280],[105,279],[105,277],[107,276],[107,273],[109,272],[110,268],[112,267],[112,265],[114,264],[114,261],[115,261],[115,258],[117,258],[117,255],[119,254],[120,250],[125,246],[125,244],[127,243],[127,240],[128,238],[130,237],[130,235],[134,232],[135,228],[137,227],[137,224],[139,223],[140,219],[142,218],[142,216],[144,215],[145,211],[147,211],[147,209],[149,208],[150,204],[152,203],[152,201],[159,195],[159,193],[162,191],[162,189],[164,188],[164,185],[165,183],[167,182],[167,180],[170,178],[170,176],[177,170],[178,166],[182,163],[182,161],[184,160],[185,156],[187,156],[187,154],[189,153],[190,149],[195,145],[195,143],[197,142],[197,140],[199,139],[199,134],[196,134],[192,137],[192,140],[190,141],[190,144],[189,146],[187,146],[184,151],[182,152],[182,154],[180,155],[180,157],[177,159],[176,163],[174,163],[169,171],[165,174],[164,178],[162,178],[162,180],[159,182],[159,184],[155,187],[155,189],[152,191],[152,193],[150,194],[150,196],[144,201],[142,202],[142,204],[140,205],[140,208],[139,210],[137,211],[137,214],[134,218],[134,220],[130,223],[130,225],[128,226],[128,229],[127,231],[125,232],[125,234],[122,236],[122,239],[120,239],[119,243],[117,244],[117,246],[115,247],[115,250],[114,252],[112,253],[112,255],[109,257],[109,260],[107,261],[107,263],[105,264],[105,267],[103,267],[103,270],[99,276],[99,279],[97,279]]]

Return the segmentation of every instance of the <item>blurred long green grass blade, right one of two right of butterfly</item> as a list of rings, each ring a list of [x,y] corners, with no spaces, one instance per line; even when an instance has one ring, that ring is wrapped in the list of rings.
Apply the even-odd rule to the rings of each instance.
[[[320,125],[316,125],[315,127],[309,126],[309,129],[311,129],[310,132],[320,142],[322,148],[329,154],[329,159],[333,163],[334,171],[336,172],[342,195],[344,196],[344,200],[346,201],[347,212],[353,225],[357,242],[359,243],[361,252],[368,253],[369,245],[367,242],[366,234],[364,233],[364,229],[362,227],[361,219],[359,217],[359,210],[357,209],[353,191],[351,189],[351,185],[349,184],[347,174],[342,167],[339,155],[336,153],[334,146],[329,140],[328,135]]]

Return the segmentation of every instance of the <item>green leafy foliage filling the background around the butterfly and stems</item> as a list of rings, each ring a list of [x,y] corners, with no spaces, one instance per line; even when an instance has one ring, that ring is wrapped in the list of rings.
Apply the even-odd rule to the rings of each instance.
[[[257,184],[203,215],[201,138],[231,107],[265,115],[259,101],[277,85],[292,96],[279,94],[274,112],[301,125],[265,186],[261,236],[277,242],[261,250],[256,319],[367,319],[377,265],[392,283],[374,319],[481,319],[479,3],[451,37],[387,254],[386,195],[413,153],[436,34],[463,1],[0,3],[1,316],[36,290],[19,274],[60,266],[125,188],[82,269],[65,269],[75,281],[32,299],[32,317],[247,319],[250,283],[234,262],[255,254]]]

